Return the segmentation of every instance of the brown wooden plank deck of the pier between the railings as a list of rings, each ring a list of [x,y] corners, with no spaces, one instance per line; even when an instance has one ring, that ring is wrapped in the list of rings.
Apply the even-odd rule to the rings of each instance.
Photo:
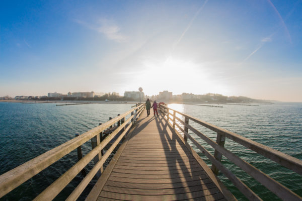
[[[163,116],[147,117],[144,111],[86,200],[226,200],[228,196]]]

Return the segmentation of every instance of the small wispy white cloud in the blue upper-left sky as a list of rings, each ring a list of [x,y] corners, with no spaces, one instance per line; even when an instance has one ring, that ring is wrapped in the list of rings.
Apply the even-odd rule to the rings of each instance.
[[[105,35],[109,40],[119,43],[127,41],[127,37],[120,32],[120,28],[113,21],[102,19],[96,24],[89,24],[80,20],[75,20],[75,22]]]

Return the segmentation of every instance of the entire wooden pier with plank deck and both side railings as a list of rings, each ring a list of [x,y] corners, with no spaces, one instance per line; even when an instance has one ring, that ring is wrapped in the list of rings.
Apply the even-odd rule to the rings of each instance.
[[[236,200],[216,177],[218,171],[249,200],[262,200],[221,163],[222,156],[282,200],[302,200],[300,195],[225,149],[224,143],[228,138],[299,175],[302,175],[301,160],[164,105],[159,107],[160,116],[147,117],[144,108],[144,104],[136,105],[128,112],[0,175],[0,198],[72,150],[81,150],[81,145],[91,141],[92,150],[79,157],[76,164],[34,200],[54,199],[91,161],[94,161],[94,167],[66,200],[77,200],[94,177],[99,178],[86,200]],[[196,126],[196,123],[216,132],[216,141],[194,128],[192,125]],[[104,132],[113,125],[116,129],[104,136]],[[205,149],[199,141],[214,148],[214,153]],[[104,162],[121,142],[104,169]],[[190,144],[194,144],[211,161],[211,166],[205,164]],[[104,153],[105,147],[108,149]]]

